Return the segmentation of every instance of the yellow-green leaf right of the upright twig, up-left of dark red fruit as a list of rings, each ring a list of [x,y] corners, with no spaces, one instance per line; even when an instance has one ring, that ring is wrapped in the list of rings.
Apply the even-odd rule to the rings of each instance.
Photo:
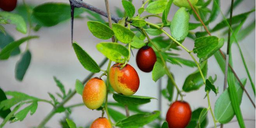
[[[114,31],[117,40],[122,43],[132,42],[133,36],[135,36],[131,30],[125,28],[121,24],[112,24],[112,30]]]

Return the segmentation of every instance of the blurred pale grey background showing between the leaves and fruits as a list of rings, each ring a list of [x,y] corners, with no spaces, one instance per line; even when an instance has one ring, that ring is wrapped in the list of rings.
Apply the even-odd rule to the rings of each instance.
[[[64,2],[69,3],[68,0],[26,0],[26,3],[32,5],[39,5],[46,2]],[[102,10],[105,10],[104,0],[86,0],[87,3],[94,5]],[[18,4],[22,4],[22,0],[18,0]],[[136,9],[139,9],[141,6],[141,0],[133,0],[133,4]],[[110,11],[115,14],[116,7],[122,7],[121,0],[109,0]],[[212,5],[210,5],[211,7]],[[221,0],[221,10],[227,12],[228,7],[230,7],[230,0]],[[244,0],[233,12],[233,16],[247,12],[255,8],[255,0]],[[171,20],[174,16],[174,12],[178,9],[175,5],[172,5],[168,19]],[[137,13],[137,12],[136,12]],[[147,14],[147,13],[145,13]],[[144,14],[144,15],[145,15]],[[87,14],[82,14],[86,16]],[[107,19],[104,17],[105,21]],[[255,19],[255,12],[249,15],[245,24],[253,21]],[[159,19],[150,18],[150,22],[158,22]],[[218,16],[217,20],[210,24],[210,28],[216,25],[217,22],[221,21],[221,15]],[[96,44],[102,42],[93,36],[87,27],[88,19],[75,19],[74,20],[74,41],[79,43],[84,50],[86,50],[95,61],[99,64],[103,60],[103,55],[96,50]],[[195,22],[195,19],[191,18],[191,22]],[[16,40],[22,38],[26,35],[16,31],[14,25],[5,25],[4,26],[7,32],[12,35]],[[165,28],[168,33],[170,31]],[[200,29],[199,29],[200,30]],[[239,34],[239,33],[238,33]],[[41,99],[51,100],[47,92],[55,93],[59,92],[56,83],[53,80],[53,76],[56,76],[64,85],[66,90],[75,88],[75,80],[83,80],[89,74],[89,71],[84,69],[80,62],[78,61],[73,48],[71,47],[71,36],[70,36],[70,21],[63,22],[54,27],[41,28],[38,32],[33,32],[31,35],[39,35],[39,39],[31,40],[29,49],[32,53],[32,60],[30,66],[26,72],[25,78],[22,82],[19,82],[14,77],[14,67],[16,62],[20,59],[19,56],[11,57],[7,61],[0,61],[0,87],[4,91],[19,91],[39,97]],[[213,33],[213,35],[221,36],[221,33]],[[109,40],[110,41],[110,40]],[[1,42],[0,42],[1,43]],[[244,40],[242,40],[240,46],[245,56],[247,66],[251,73],[252,79],[255,83],[255,29],[250,33]],[[183,42],[184,46],[189,50],[192,50],[194,47],[193,40],[186,38]],[[26,44],[21,45],[21,50],[25,49]],[[226,42],[222,48],[226,51]],[[181,57],[190,59],[189,54],[185,51],[175,51],[181,54]],[[136,55],[137,50],[133,50],[133,53]],[[247,78],[240,54],[238,52],[237,45],[233,43],[232,45],[232,54],[233,54],[233,65],[234,69],[239,76],[239,78]],[[130,65],[132,65],[138,72],[140,77],[140,87],[135,95],[150,96],[158,98],[158,82],[154,82],[151,79],[151,73],[144,73],[139,70],[136,65],[135,57],[131,57]],[[210,93],[210,101],[212,107],[214,108],[214,103],[223,92],[223,81],[224,75],[219,68],[214,57],[211,57],[208,61],[209,69],[208,76],[214,76],[217,74],[217,81],[214,85],[219,86],[219,94],[216,96],[213,92]],[[187,66],[180,67],[178,65],[171,65],[168,63],[170,71],[174,73],[175,81],[179,88],[182,88],[185,78],[188,74],[196,70],[196,68],[191,68]],[[107,64],[105,64],[102,69],[106,69]],[[95,76],[100,76],[96,74]],[[165,88],[167,85],[167,76],[162,79],[162,88]],[[251,85],[247,79],[245,88],[248,90],[249,94],[252,97],[252,100],[255,102],[255,97],[253,91],[251,90]],[[176,92],[175,94],[176,95]],[[207,99],[203,99],[205,96],[204,87],[200,88],[198,91],[193,91],[186,93],[184,100],[189,102],[191,109],[195,110],[198,107],[207,107]],[[114,101],[112,96],[109,97],[110,101]],[[60,101],[60,100],[59,100]],[[66,106],[76,103],[81,103],[81,95],[75,95],[71,100],[69,100]],[[168,110],[168,105],[170,102],[163,99],[162,102],[162,113],[161,116],[165,118],[165,114]],[[249,99],[246,95],[243,96],[241,110],[244,119],[254,119],[254,121],[245,121],[247,128],[255,128],[255,109],[251,105]],[[144,104],[141,106],[141,109],[146,111],[154,111],[158,109],[158,100],[151,100],[150,103]],[[43,102],[40,102],[37,108],[37,111],[33,116],[29,114],[22,121],[15,123],[7,123],[6,128],[31,128],[33,126],[39,125],[40,121],[52,110],[52,106]],[[124,113],[124,111],[122,111]],[[53,118],[46,124],[50,128],[60,128],[60,119],[65,116],[64,113],[56,114]],[[92,111],[85,106],[76,107],[72,109],[72,114],[70,118],[74,120],[77,126],[86,126],[91,123],[94,119],[101,116],[101,111]],[[208,112],[209,125],[207,128],[214,126],[210,112]],[[236,118],[233,118],[236,120]],[[2,122],[2,119],[0,119]],[[147,126],[146,126],[147,127]],[[238,123],[228,123],[225,125],[226,128],[238,128]]]

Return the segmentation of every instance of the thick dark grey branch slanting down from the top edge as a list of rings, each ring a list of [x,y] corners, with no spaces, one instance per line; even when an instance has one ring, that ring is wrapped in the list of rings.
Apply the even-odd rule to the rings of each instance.
[[[85,3],[85,2],[83,2],[81,0],[69,0],[69,2],[71,4],[71,6],[78,7],[78,8],[83,7],[83,8],[89,9],[89,10],[91,10],[93,12],[96,12],[96,13],[102,15],[102,16],[108,17],[107,12],[105,12],[103,10],[100,10],[100,9],[98,9],[98,8],[88,4],[88,3]],[[114,16],[114,15],[111,15],[111,19],[112,19],[112,21],[117,23],[122,18]]]

